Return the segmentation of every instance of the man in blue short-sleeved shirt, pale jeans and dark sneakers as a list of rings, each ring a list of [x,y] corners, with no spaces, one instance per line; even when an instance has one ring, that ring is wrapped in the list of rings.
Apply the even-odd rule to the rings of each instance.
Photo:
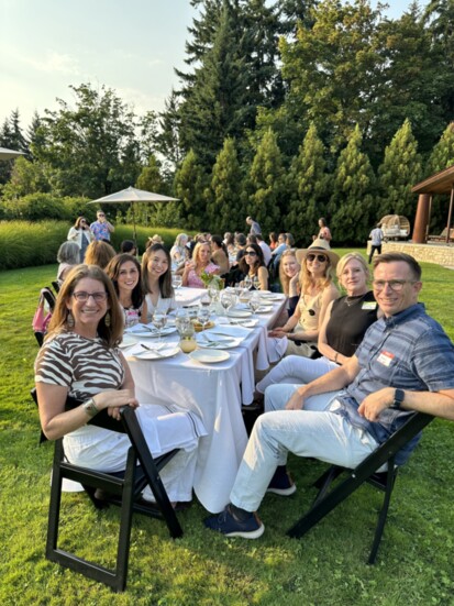
[[[374,295],[384,313],[347,362],[307,385],[272,385],[222,514],[204,524],[228,537],[256,539],[265,493],[296,486],[288,452],[353,469],[418,410],[454,420],[454,346],[418,304],[421,267],[405,253],[374,262]],[[419,437],[400,450],[402,464]]]

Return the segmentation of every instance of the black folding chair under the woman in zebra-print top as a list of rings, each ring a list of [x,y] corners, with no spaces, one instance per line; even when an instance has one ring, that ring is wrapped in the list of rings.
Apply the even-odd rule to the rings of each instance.
[[[36,400],[34,390],[32,396]],[[80,403],[68,398],[66,408],[69,409],[78,404]],[[102,410],[91,419],[90,423],[128,433],[131,448],[124,474],[103,473],[73,465],[65,460],[63,439],[56,440],[46,541],[46,558],[48,560],[104,583],[117,592],[124,591],[126,586],[133,513],[164,518],[170,537],[174,539],[182,535],[182,529],[159,476],[160,470],[175,456],[178,449],[154,459],[139,425],[135,410],[126,406],[121,409],[120,414],[121,422],[109,417],[107,410]],[[58,547],[62,485],[65,478],[79,482],[98,509],[103,509],[110,504],[120,506],[120,530],[114,569],[107,569]],[[141,493],[147,484],[155,497],[157,509],[140,499]],[[106,498],[98,498],[99,492],[102,492]]]

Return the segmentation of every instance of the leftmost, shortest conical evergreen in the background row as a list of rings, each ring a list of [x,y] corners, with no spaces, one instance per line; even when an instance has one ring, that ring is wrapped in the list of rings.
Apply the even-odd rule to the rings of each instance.
[[[206,227],[206,174],[196,153],[190,150],[175,175],[175,197],[179,199],[185,229],[200,230]]]

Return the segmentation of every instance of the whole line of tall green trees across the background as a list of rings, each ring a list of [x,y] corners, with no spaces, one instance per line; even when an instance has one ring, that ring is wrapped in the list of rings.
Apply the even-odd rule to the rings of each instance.
[[[169,227],[232,231],[252,214],[302,243],[324,216],[341,244],[364,242],[385,214],[412,223],[411,186],[454,163],[451,0],[399,19],[367,0],[190,3],[187,69],[163,112],[137,117],[81,84],[25,133],[19,110],[4,120],[0,145],[25,156],[0,166],[3,218],[36,192],[136,185],[179,198],[141,209]],[[431,229],[446,214],[435,200]]]

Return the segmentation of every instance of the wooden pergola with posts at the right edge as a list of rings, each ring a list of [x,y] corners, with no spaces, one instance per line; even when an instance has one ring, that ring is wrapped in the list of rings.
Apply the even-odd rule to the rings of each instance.
[[[424,244],[428,239],[428,227],[431,216],[432,198],[435,194],[451,194],[447,211],[446,244],[450,243],[451,222],[454,205],[454,165],[440,170],[411,188],[419,195],[417,217],[414,219],[413,242]]]

